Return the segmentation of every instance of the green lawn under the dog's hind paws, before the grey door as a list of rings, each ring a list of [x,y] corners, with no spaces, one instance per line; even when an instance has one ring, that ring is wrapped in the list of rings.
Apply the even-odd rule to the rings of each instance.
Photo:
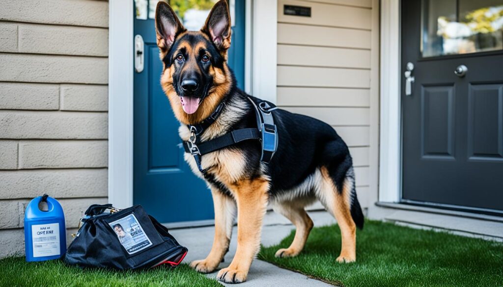
[[[334,225],[313,228],[297,257],[274,257],[293,237],[263,247],[259,259],[341,286],[503,286],[502,243],[366,221],[355,263],[336,262],[341,233]]]

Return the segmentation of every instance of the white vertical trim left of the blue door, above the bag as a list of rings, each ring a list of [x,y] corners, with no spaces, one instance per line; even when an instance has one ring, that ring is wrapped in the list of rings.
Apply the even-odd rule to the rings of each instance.
[[[109,2],[108,202],[133,205],[133,1]]]

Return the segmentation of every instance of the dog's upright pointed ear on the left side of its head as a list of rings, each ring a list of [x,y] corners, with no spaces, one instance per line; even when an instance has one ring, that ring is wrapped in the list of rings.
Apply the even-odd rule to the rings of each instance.
[[[170,5],[159,1],[155,8],[155,32],[161,55],[165,55],[170,50],[176,36],[184,31],[186,31],[185,27],[180,23]]]

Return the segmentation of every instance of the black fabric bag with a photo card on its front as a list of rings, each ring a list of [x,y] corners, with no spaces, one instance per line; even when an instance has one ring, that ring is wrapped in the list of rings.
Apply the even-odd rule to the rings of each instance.
[[[81,221],[64,257],[70,265],[120,270],[176,266],[187,254],[187,248],[140,205],[123,210],[92,205]]]

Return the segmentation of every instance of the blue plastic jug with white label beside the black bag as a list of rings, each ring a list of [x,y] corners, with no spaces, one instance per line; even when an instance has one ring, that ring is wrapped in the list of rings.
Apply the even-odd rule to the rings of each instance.
[[[39,204],[47,202],[47,211]],[[59,202],[44,195],[34,198],[25,211],[26,261],[58,259],[66,252],[66,228]]]

